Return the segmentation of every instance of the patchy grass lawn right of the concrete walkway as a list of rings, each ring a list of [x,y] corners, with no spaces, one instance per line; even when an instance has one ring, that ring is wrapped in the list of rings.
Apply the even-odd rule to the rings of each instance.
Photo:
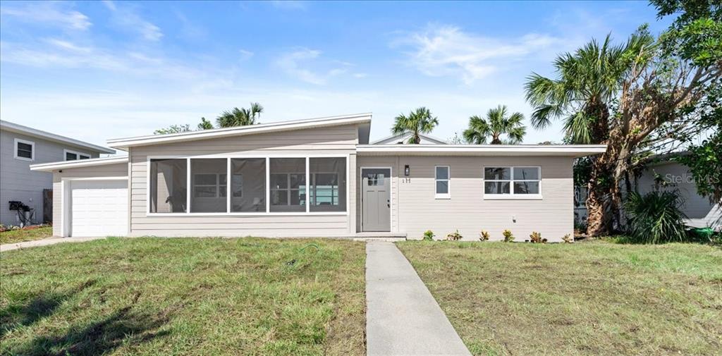
[[[397,243],[474,355],[719,355],[722,249]]]

